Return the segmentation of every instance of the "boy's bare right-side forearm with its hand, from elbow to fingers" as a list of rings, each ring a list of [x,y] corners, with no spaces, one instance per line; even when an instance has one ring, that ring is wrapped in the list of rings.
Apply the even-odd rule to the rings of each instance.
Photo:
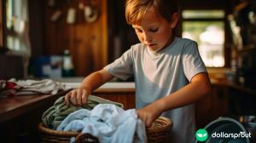
[[[154,119],[159,117],[162,112],[189,105],[210,93],[210,91],[211,83],[207,73],[199,73],[191,79],[188,85],[177,90],[177,92],[156,100],[143,109],[137,110],[137,116],[147,126],[150,126]]]

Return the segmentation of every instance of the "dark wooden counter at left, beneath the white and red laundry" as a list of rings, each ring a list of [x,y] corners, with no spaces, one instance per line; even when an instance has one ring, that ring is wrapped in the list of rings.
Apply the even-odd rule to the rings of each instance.
[[[38,123],[43,113],[66,93],[0,98],[0,142],[40,141]]]

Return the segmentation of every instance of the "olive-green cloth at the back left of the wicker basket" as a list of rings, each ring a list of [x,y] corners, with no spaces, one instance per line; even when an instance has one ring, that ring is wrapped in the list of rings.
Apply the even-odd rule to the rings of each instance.
[[[121,108],[124,107],[121,103],[106,100],[94,95],[89,95],[86,104],[82,106],[73,106],[72,104],[67,106],[65,103],[65,97],[61,96],[59,99],[55,100],[54,106],[49,107],[49,109],[44,112],[42,121],[45,127],[49,129],[56,129],[70,113],[82,108],[92,110],[98,104],[114,104]]]

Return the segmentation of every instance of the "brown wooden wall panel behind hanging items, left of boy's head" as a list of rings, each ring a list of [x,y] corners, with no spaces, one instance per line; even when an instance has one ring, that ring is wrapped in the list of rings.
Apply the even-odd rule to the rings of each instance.
[[[46,1],[47,2],[47,1]],[[99,18],[88,23],[84,20],[84,11],[79,9],[79,3],[87,4],[89,1],[55,1],[50,7],[44,3],[44,41],[45,54],[63,54],[69,49],[73,56],[76,76],[86,76],[90,72],[102,69],[108,64],[108,20],[107,1],[91,0],[91,4],[99,10]],[[74,24],[67,24],[67,10],[76,9]],[[61,10],[59,20],[50,20],[56,10]]]

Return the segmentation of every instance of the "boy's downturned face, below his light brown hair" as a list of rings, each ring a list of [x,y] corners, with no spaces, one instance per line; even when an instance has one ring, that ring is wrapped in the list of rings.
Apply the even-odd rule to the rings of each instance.
[[[150,8],[140,22],[132,25],[132,27],[141,43],[145,44],[151,51],[157,52],[172,43],[172,29],[177,24],[177,20],[173,19],[177,19],[177,16],[172,16],[172,21],[168,22],[156,14],[154,8]]]

